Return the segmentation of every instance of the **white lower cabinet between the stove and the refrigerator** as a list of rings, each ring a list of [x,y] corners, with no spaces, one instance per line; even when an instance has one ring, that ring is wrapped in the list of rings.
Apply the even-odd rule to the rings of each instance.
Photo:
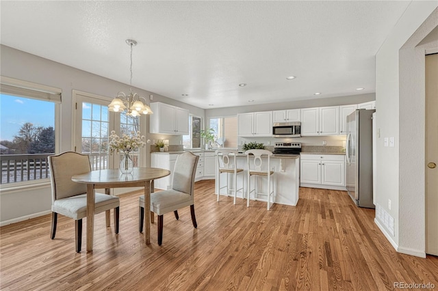
[[[301,154],[300,186],[345,190],[345,155]]]

